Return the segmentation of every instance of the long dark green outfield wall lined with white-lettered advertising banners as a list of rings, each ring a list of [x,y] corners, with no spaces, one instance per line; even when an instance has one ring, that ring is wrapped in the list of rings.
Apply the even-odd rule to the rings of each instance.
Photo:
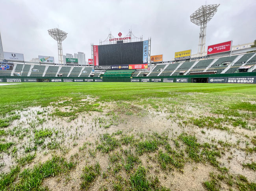
[[[141,76],[141,77],[97,77],[97,78],[68,78],[68,77],[28,77],[0,76],[0,82],[166,82],[191,83],[195,79],[203,79],[208,83],[245,83],[256,84],[256,72],[207,74],[185,76]]]

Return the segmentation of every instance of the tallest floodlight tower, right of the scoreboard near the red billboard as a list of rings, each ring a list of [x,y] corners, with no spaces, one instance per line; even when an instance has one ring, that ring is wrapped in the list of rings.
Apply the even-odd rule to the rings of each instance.
[[[220,4],[219,4],[220,5]],[[200,26],[199,43],[198,43],[198,54],[202,56],[205,49],[206,39],[206,24],[211,20],[213,15],[217,12],[219,5],[202,5],[197,11],[190,15],[190,20],[194,24]]]

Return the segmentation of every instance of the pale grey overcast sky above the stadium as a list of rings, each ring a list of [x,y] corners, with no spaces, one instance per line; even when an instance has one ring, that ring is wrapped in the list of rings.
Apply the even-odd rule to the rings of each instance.
[[[205,0],[0,0],[0,32],[6,52],[23,53],[26,61],[38,55],[58,60],[57,42],[48,35],[56,28],[68,33],[63,54],[84,52],[91,57],[91,43],[107,38],[109,30],[143,40],[151,37],[151,55],[174,58],[175,51],[197,53],[200,27],[190,15]],[[233,45],[256,39],[256,0],[207,0],[220,4],[206,29],[206,47],[233,40]]]

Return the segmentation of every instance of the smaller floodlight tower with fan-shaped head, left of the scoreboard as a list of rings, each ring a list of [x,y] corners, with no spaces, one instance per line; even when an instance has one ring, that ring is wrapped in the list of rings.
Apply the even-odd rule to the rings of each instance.
[[[58,42],[58,54],[59,54],[59,64],[63,64],[63,52],[62,52],[62,41],[67,38],[67,34],[64,31],[61,31],[58,28],[55,29],[49,29],[48,33],[54,40],[57,40]]]

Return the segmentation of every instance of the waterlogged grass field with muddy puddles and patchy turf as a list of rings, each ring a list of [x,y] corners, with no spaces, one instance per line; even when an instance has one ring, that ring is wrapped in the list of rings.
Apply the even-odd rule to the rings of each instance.
[[[256,85],[0,86],[0,190],[256,190]]]

